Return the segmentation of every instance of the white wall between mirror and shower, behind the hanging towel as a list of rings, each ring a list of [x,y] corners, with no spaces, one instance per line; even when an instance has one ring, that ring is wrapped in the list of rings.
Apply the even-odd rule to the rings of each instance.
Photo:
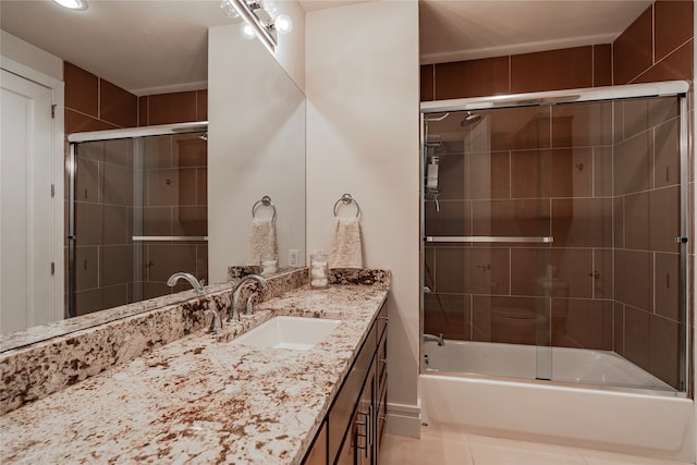
[[[388,428],[418,437],[419,62],[415,0],[306,17],[307,249],[329,250],[332,207],[363,211],[364,267],[392,271]]]

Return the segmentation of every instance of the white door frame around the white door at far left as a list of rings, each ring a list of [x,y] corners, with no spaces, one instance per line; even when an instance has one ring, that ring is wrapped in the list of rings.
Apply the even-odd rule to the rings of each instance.
[[[64,87],[65,84],[53,76],[41,73],[12,59],[0,56],[0,68],[27,81],[47,87],[52,94],[53,119],[51,134],[51,183],[53,184],[53,321],[62,320],[65,315],[65,267],[64,267],[64,179],[65,179],[65,130],[64,130]]]

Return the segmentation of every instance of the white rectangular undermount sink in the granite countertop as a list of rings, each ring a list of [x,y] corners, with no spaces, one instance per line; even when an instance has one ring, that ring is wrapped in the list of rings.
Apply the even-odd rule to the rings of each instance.
[[[231,342],[266,348],[308,351],[321,342],[341,320],[306,317],[273,317]]]

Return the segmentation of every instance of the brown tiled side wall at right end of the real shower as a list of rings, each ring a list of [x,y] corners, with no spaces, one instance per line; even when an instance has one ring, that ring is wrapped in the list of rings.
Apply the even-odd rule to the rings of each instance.
[[[615,85],[692,79],[692,1],[657,1],[613,44]],[[678,126],[664,102],[626,102],[615,124],[615,351],[662,380],[678,377]],[[695,118],[694,108],[690,118]],[[694,121],[694,120],[693,120]],[[694,145],[689,166],[694,163]],[[692,171],[690,171],[692,174]],[[689,192],[694,193],[694,180]],[[688,211],[695,211],[689,196]],[[689,223],[692,227],[692,222]],[[688,233],[692,238],[694,231]],[[689,262],[695,262],[694,241]],[[694,309],[693,309],[694,311]],[[693,333],[694,333],[694,318]]]

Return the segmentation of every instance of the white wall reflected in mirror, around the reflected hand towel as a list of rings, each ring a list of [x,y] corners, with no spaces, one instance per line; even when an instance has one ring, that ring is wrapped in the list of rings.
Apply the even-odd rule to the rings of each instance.
[[[305,254],[305,97],[239,24],[208,30],[208,273],[246,262],[252,207],[278,210],[279,262]],[[259,216],[269,210],[259,211]]]

